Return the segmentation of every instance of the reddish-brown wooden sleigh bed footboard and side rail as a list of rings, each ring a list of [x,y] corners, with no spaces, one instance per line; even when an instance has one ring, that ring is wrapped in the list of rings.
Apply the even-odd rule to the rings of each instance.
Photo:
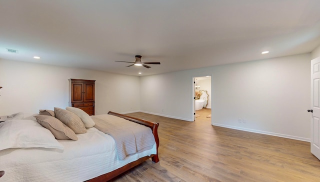
[[[112,111],[109,111],[108,114],[115,115],[115,116],[118,116],[118,117],[122,117],[124,119],[127,119],[127,120],[130,120],[130,121],[145,125],[147,127],[150,127],[152,129],[152,133],[154,135],[154,139],[155,139],[155,142],[156,142],[156,154],[153,154],[151,156],[141,157],[141,158],[139,158],[139,159],[137,159],[137,160],[135,160],[133,162],[130,162],[130,163],[128,163],[128,164],[126,164],[126,165],[124,165],[124,166],[122,166],[120,168],[117,168],[117,169],[115,169],[115,170],[113,170],[111,172],[108,172],[108,173],[105,173],[105,174],[102,174],[102,175],[99,175],[97,177],[94,177],[92,179],[87,180],[89,182],[99,182],[99,181],[111,180],[112,178],[118,176],[119,174],[121,174],[121,173],[129,170],[130,168],[132,168],[132,167],[144,162],[145,160],[147,160],[150,157],[151,157],[152,161],[155,162],[155,163],[159,161],[159,157],[158,157],[159,137],[158,137],[158,132],[157,132],[159,123],[147,121],[147,120],[140,119],[140,118],[131,117],[131,116],[128,116],[128,115],[119,114],[119,113],[112,112]]]

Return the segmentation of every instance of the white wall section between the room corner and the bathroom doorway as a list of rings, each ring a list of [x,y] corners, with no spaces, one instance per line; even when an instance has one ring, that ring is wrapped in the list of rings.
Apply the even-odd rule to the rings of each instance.
[[[188,120],[193,115],[192,83],[192,76],[186,71],[141,76],[140,109],[147,113]]]

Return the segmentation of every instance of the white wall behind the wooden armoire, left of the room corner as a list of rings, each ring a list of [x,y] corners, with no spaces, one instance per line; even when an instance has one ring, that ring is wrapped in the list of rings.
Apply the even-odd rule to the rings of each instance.
[[[68,106],[68,79],[95,81],[95,113],[139,110],[139,77],[0,59],[0,115]]]

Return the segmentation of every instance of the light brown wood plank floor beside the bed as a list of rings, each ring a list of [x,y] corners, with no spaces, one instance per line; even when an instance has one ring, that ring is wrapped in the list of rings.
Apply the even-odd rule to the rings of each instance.
[[[199,112],[204,112],[199,113]],[[310,143],[135,112],[159,122],[160,162],[147,160],[112,181],[320,181]]]

